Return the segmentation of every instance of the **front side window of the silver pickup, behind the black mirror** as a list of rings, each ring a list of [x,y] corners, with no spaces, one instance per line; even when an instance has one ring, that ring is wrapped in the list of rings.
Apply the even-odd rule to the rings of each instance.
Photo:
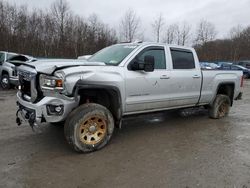
[[[165,51],[164,49],[148,49],[144,52],[142,52],[142,54],[140,54],[137,59],[141,62],[144,61],[144,57],[146,55],[150,55],[153,56],[155,59],[155,69],[166,69],[166,58],[165,58]]]

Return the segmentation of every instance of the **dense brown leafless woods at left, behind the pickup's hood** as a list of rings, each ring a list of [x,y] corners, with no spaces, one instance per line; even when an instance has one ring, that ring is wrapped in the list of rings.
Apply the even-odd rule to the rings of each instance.
[[[0,0],[1,50],[35,57],[75,58],[92,54],[117,42],[115,30],[95,14],[74,15],[66,0],[57,0],[47,11]]]

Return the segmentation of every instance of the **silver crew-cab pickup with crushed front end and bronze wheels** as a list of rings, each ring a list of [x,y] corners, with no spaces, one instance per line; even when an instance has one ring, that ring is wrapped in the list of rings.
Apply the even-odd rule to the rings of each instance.
[[[87,61],[36,61],[18,74],[17,123],[65,122],[78,152],[105,146],[132,114],[204,106],[222,118],[243,80],[241,71],[201,70],[193,48],[159,43],[116,44]]]

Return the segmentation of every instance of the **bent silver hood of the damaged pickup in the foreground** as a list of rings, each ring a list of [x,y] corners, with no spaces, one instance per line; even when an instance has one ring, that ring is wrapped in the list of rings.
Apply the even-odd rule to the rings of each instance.
[[[86,60],[74,60],[74,59],[53,59],[53,60],[38,60],[29,63],[23,63],[28,67],[36,69],[37,72],[52,74],[57,69],[76,67],[76,66],[105,66],[103,62],[88,62]],[[20,67],[21,68],[21,67]]]

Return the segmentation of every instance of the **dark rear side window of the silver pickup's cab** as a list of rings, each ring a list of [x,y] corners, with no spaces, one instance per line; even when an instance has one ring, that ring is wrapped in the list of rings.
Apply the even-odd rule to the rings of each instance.
[[[173,69],[194,69],[194,56],[191,51],[171,49]]]

